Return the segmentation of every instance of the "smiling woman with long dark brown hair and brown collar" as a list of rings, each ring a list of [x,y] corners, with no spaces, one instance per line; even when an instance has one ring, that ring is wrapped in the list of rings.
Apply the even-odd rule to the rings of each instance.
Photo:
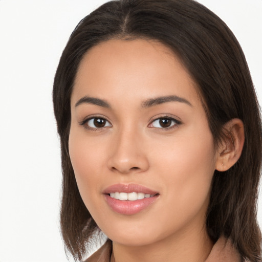
[[[261,122],[244,54],[191,0],[109,2],[54,81],[65,246],[86,261],[260,261]]]

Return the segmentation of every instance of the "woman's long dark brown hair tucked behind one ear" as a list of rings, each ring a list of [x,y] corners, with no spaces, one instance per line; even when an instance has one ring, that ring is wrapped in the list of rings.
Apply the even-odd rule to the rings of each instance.
[[[81,259],[98,227],[86,209],[68,154],[70,98],[83,55],[107,39],[156,39],[176,53],[198,84],[214,143],[223,125],[239,118],[245,125],[241,158],[225,172],[215,171],[206,227],[212,241],[230,237],[243,258],[261,259],[256,221],[261,166],[261,120],[243,51],[226,24],[192,0],[120,0],[83,18],[70,36],[54,79],[53,102],[61,139],[60,223],[65,247]]]

